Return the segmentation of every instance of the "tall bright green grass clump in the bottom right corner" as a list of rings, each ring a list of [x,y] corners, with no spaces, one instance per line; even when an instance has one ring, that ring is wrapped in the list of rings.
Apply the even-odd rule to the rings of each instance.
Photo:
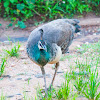
[[[100,86],[100,80],[98,78],[97,68],[95,68],[95,70],[90,69],[89,72],[89,79],[87,80],[87,84],[85,84],[85,89],[82,93],[89,100],[99,100],[100,92],[98,93],[97,90]]]

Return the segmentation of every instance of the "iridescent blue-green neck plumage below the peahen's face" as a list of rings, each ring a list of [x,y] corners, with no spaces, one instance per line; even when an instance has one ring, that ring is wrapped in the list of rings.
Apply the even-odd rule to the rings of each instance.
[[[39,50],[38,45],[35,45],[32,50],[33,60],[41,66],[46,65],[50,58],[48,51],[49,50],[47,50],[47,52],[45,50]]]

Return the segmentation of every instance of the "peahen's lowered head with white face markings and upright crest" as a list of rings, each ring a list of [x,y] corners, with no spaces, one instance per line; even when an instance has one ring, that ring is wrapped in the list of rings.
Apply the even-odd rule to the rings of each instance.
[[[47,52],[46,42],[43,40],[43,29],[39,30],[41,33],[41,38],[38,41],[38,48],[39,50],[45,50]]]

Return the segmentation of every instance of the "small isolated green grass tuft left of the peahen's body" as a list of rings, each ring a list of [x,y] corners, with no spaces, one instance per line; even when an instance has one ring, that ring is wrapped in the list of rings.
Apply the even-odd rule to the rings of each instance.
[[[14,47],[11,48],[11,50],[5,50],[7,52],[7,54],[10,56],[10,57],[18,57],[19,56],[19,48],[20,48],[20,44],[18,42],[18,44],[14,44]]]

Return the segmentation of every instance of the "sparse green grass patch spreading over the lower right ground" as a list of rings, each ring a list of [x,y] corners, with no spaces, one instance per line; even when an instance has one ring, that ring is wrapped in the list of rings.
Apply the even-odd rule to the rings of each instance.
[[[100,90],[98,90],[100,88],[100,76],[98,75],[100,41],[83,44],[77,50],[77,58],[81,57],[83,60],[76,59],[75,65],[71,66],[70,72],[65,74],[65,82],[61,87],[55,88],[53,92],[48,91],[50,95],[47,98],[44,98],[40,89],[37,94],[42,100],[77,100],[80,96],[88,100],[100,100]],[[86,52],[87,54],[84,55]],[[65,56],[62,59],[66,58],[71,59],[73,57]]]

